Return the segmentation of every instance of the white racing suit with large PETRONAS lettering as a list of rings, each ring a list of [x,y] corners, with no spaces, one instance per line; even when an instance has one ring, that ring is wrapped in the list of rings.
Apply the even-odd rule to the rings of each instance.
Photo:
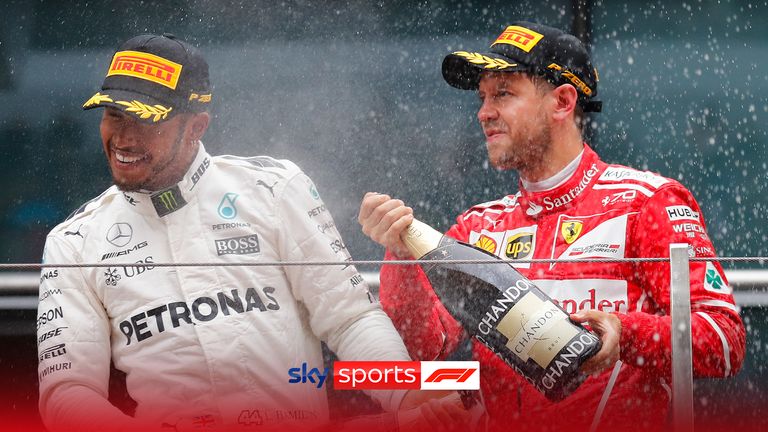
[[[211,157],[201,144],[177,185],[113,186],[85,204],[51,231],[43,259],[109,264],[43,269],[49,429],[302,429],[328,419],[327,384],[311,373],[324,371],[320,340],[344,360],[409,359],[353,266],[153,265],[350,259],[314,184],[286,160]],[[127,374],[135,418],[107,402],[110,361]],[[403,396],[372,393],[387,410]]]

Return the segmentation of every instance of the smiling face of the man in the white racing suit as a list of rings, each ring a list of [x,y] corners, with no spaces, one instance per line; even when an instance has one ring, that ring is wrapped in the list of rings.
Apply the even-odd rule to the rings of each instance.
[[[147,124],[114,108],[105,108],[101,141],[112,180],[124,191],[159,190],[178,183],[198,149],[196,133],[207,114],[179,114],[162,123]],[[203,131],[205,128],[203,128]]]

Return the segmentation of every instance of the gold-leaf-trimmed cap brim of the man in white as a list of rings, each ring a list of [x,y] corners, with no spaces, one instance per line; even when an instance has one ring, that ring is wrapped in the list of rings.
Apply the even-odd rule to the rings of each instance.
[[[116,108],[144,123],[159,123],[176,114],[175,107],[155,98],[126,90],[102,90],[83,104],[84,110]]]

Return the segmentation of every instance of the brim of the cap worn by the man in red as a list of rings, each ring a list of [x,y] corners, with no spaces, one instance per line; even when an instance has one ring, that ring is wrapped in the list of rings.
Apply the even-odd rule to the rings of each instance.
[[[456,51],[443,59],[443,79],[462,90],[477,90],[481,72],[520,72],[526,65],[495,53]]]

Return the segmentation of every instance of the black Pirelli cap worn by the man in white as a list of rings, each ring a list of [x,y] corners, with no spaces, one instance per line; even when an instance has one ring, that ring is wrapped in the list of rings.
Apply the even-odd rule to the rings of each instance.
[[[120,45],[101,91],[83,109],[113,107],[155,123],[205,111],[210,102],[208,62],[200,51],[169,33],[145,34]]]

